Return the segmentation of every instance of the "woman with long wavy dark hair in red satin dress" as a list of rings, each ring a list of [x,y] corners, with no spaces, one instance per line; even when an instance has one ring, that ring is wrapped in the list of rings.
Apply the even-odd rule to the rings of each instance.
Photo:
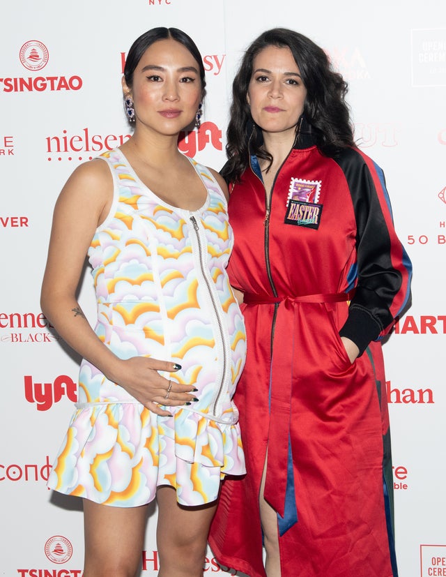
[[[210,545],[250,577],[397,576],[380,339],[408,306],[411,265],[346,91],[288,29],[254,40],[233,82],[222,174],[247,475],[224,481]]]

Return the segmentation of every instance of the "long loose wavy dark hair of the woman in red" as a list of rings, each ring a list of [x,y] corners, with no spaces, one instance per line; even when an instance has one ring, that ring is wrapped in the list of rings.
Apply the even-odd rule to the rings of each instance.
[[[339,149],[354,146],[350,111],[345,101],[347,83],[312,40],[293,30],[274,28],[263,32],[248,47],[233,81],[231,118],[226,133],[229,160],[222,169],[228,182],[240,179],[248,165],[248,141],[252,153],[272,163],[272,156],[262,147],[261,129],[254,124],[247,103],[254,58],[268,46],[289,47],[293,54],[307,89],[303,115],[312,126],[321,153],[336,156]]]

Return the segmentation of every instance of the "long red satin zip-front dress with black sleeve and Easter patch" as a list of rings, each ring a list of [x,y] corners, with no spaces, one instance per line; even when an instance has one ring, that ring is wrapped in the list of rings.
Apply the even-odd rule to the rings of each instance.
[[[397,577],[378,339],[410,298],[411,267],[383,173],[357,149],[334,160],[295,148],[269,214],[266,202],[252,160],[229,201],[229,276],[245,293],[235,402],[247,474],[224,481],[210,546],[224,566],[266,576],[258,496],[268,447],[282,577]],[[360,347],[353,364],[340,332]]]

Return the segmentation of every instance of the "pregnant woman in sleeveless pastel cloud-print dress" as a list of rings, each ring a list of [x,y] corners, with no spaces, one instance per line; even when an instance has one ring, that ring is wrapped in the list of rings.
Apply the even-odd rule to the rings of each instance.
[[[245,473],[228,190],[178,150],[206,87],[187,34],[140,36],[122,87],[132,137],[77,167],[54,211],[42,310],[83,360],[48,486],[83,499],[84,577],[139,574],[155,499],[158,575],[200,577],[221,480]],[[77,302],[86,255],[94,330]]]

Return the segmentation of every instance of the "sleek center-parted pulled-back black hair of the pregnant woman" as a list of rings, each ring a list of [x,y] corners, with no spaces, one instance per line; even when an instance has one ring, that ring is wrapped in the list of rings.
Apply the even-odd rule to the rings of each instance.
[[[125,59],[125,84],[127,84],[129,88],[132,88],[134,70],[137,68],[139,61],[141,60],[144,52],[146,52],[148,47],[157,42],[157,40],[167,40],[169,38],[171,40],[176,40],[176,42],[187,48],[190,54],[192,54],[194,59],[197,61],[199,66],[201,89],[203,91],[204,97],[206,94],[206,79],[204,77],[203,59],[201,58],[201,54],[197,48],[197,45],[194,43],[194,40],[192,40],[190,36],[178,28],[152,28],[134,40],[134,43],[128,51],[127,59]]]

